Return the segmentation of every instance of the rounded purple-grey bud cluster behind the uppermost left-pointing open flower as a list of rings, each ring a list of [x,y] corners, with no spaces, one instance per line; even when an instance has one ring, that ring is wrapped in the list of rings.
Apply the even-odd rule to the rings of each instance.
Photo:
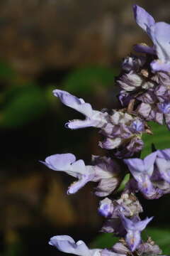
[[[129,157],[142,150],[143,132],[145,132],[145,122],[142,119],[126,112],[113,110],[108,124],[101,128],[101,134],[106,138],[103,142],[99,142],[99,146],[103,149],[115,149],[113,154],[118,158]]]

